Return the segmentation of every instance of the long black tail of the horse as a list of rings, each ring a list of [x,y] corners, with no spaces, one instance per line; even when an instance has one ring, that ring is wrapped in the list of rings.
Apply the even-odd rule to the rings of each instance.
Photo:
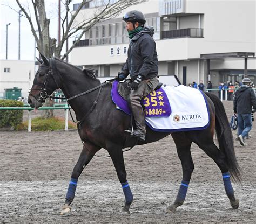
[[[206,93],[206,95],[212,100],[215,106],[215,130],[219,148],[224,152],[226,157],[228,171],[235,181],[239,181],[241,183],[241,171],[237,158],[235,157],[233,135],[225,108],[217,96],[212,93]]]

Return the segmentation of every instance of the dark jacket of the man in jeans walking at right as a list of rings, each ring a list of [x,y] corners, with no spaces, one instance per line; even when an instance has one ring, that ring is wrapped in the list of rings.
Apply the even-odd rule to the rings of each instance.
[[[251,114],[252,106],[256,109],[255,93],[252,88],[242,85],[234,95],[234,113]]]

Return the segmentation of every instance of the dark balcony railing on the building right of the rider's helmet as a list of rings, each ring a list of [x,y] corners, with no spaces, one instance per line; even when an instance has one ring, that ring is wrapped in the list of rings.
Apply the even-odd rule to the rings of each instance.
[[[204,29],[187,28],[180,30],[162,31],[162,39],[179,38],[179,37],[204,37]]]

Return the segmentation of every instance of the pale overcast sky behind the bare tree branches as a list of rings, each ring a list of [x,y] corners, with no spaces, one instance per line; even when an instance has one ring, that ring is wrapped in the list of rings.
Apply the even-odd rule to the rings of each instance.
[[[30,0],[21,0],[24,5],[32,3]],[[72,9],[73,3],[81,1],[72,1],[70,8]],[[18,60],[18,13],[10,9],[14,8],[19,11],[19,7],[15,0],[0,0],[0,59],[6,58],[6,24],[11,23],[8,26],[8,59]],[[50,18],[50,36],[57,38],[57,15],[58,15],[58,0],[45,0],[45,6],[47,8],[46,13]],[[31,13],[33,9],[31,9]],[[32,36],[31,27],[28,20],[25,17],[21,17],[21,60],[33,60],[35,53],[35,39]],[[36,52],[36,56],[38,52]]]

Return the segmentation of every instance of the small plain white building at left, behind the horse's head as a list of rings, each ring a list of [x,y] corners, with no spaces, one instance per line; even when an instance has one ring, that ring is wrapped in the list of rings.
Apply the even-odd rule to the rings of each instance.
[[[34,76],[35,61],[0,60],[0,99],[4,98],[5,89],[14,87],[22,89],[22,97],[28,97]]]

